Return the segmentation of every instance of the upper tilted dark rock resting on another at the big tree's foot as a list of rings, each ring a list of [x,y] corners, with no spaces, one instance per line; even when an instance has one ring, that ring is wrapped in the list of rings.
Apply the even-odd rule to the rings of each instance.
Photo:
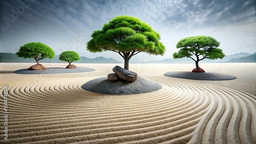
[[[129,82],[135,82],[137,80],[137,74],[133,71],[124,69],[120,66],[113,68],[114,73],[121,79]]]

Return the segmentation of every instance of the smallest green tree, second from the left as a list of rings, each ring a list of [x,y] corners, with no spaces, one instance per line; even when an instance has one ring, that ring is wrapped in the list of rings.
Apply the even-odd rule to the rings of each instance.
[[[67,61],[67,62],[69,62],[69,65],[70,65],[71,62],[80,60],[80,56],[79,56],[79,54],[77,54],[74,51],[66,51],[66,52],[62,52],[59,55],[59,60],[60,61]]]

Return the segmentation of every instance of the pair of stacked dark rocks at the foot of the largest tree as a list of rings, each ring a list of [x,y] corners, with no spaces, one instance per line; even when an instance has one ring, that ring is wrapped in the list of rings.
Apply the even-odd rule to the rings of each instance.
[[[127,82],[135,82],[137,80],[137,73],[124,69],[120,66],[115,66],[113,68],[113,71],[115,74],[108,75],[108,79],[112,82],[120,81],[120,80],[127,81]]]

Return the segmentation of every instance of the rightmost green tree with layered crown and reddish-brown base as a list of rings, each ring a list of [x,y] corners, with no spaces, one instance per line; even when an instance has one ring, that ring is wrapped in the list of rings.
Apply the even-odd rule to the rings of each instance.
[[[178,58],[191,58],[196,62],[196,68],[193,72],[205,73],[199,67],[199,61],[203,59],[222,59],[225,57],[221,49],[220,42],[210,36],[193,36],[181,39],[176,48],[180,49],[179,52],[173,54],[174,59]],[[192,57],[194,55],[194,58]]]

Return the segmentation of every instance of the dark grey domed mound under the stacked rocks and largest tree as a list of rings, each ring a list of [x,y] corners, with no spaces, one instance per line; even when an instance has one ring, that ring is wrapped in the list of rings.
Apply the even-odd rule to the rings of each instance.
[[[162,88],[157,82],[139,77],[135,82],[111,82],[108,78],[98,78],[82,85],[82,89],[103,94],[139,94]]]

